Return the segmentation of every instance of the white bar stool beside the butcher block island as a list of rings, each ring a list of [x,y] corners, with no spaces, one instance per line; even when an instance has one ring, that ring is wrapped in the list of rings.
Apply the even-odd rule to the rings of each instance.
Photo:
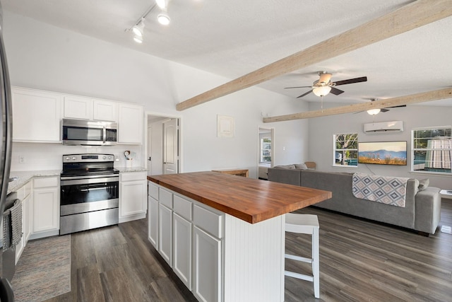
[[[312,258],[285,254],[285,258],[312,264],[312,276],[284,271],[289,277],[314,282],[314,297],[320,298],[319,284],[319,219],[311,214],[285,214],[285,231],[290,233],[310,234],[312,236]]]

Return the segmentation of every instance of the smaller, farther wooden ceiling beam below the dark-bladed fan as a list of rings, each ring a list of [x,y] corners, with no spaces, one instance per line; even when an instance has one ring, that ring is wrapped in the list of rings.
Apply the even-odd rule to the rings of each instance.
[[[343,113],[361,112],[367,111],[369,109],[390,108],[393,106],[429,102],[431,100],[443,100],[444,98],[452,98],[452,88],[416,93],[412,95],[400,96],[397,98],[388,98],[386,100],[374,100],[373,102],[362,104],[352,104],[323,110],[299,112],[290,115],[279,115],[276,117],[264,117],[263,122],[283,122],[288,120],[309,119],[311,117],[326,117],[328,115],[341,115]]]

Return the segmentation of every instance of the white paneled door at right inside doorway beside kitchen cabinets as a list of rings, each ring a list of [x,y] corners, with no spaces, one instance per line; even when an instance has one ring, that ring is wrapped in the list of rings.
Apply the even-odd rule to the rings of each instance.
[[[163,174],[179,173],[179,120],[163,122]]]

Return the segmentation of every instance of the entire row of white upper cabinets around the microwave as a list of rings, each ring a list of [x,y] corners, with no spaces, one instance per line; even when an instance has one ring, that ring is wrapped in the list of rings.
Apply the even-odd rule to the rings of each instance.
[[[118,144],[143,144],[144,108],[79,95],[12,87],[13,141],[61,142],[61,119],[118,123]]]

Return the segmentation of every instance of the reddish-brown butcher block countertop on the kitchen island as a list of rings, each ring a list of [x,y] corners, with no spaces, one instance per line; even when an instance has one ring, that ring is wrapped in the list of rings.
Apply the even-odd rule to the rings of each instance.
[[[332,197],[328,191],[215,172],[151,175],[148,180],[249,223]]]

